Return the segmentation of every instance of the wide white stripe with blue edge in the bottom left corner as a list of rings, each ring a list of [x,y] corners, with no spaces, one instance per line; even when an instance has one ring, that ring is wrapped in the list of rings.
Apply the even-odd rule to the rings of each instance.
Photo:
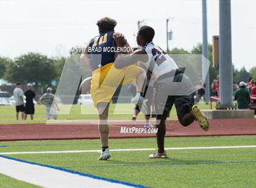
[[[42,187],[129,187],[0,157],[0,173]]]

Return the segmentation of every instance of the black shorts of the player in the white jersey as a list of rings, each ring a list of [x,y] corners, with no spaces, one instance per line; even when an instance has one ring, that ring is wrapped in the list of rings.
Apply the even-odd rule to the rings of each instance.
[[[194,92],[190,79],[179,70],[166,73],[154,83],[155,112],[157,115],[168,115],[175,104],[177,115],[187,107],[191,111],[194,104]]]

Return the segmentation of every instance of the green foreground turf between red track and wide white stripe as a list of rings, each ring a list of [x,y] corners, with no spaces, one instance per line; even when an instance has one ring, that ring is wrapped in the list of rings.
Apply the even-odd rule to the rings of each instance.
[[[0,145],[0,152],[100,148],[97,139],[13,141]],[[155,138],[110,139],[109,145],[111,149],[157,147]],[[256,136],[166,138],[165,143],[165,147],[247,145],[256,145]],[[97,161],[99,153],[96,152],[8,156],[149,187],[255,187],[256,184],[255,148],[168,150],[168,159],[148,159],[152,152],[154,150],[112,152],[108,161]],[[9,183],[9,179],[3,178],[2,184],[5,183]]]

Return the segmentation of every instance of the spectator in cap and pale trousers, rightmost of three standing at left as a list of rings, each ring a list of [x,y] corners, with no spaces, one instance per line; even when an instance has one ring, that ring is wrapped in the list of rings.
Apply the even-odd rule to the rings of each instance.
[[[42,104],[44,104],[44,106],[45,106],[46,118],[47,119],[51,119],[51,116],[54,119],[58,118],[57,110],[59,110],[59,107],[58,107],[57,102],[54,101],[54,94],[52,94],[51,87],[48,87],[48,89],[46,89],[46,93],[44,93],[41,96],[40,102]],[[50,112],[50,110],[51,110],[51,112]]]

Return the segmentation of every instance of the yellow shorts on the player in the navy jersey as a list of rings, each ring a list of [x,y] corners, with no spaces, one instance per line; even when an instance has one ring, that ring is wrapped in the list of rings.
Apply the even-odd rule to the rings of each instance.
[[[137,75],[140,72],[141,68],[136,65],[116,69],[113,63],[94,70],[90,90],[94,106],[97,107],[99,102],[111,102],[116,87],[120,84],[136,82]]]

